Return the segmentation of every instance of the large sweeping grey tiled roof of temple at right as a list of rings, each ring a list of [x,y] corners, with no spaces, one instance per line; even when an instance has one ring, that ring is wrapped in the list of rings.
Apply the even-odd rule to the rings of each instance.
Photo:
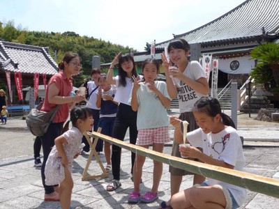
[[[190,44],[214,45],[261,36],[279,37],[279,0],[244,1],[216,20],[175,37],[184,38]],[[156,44],[156,48],[167,46],[169,41]]]

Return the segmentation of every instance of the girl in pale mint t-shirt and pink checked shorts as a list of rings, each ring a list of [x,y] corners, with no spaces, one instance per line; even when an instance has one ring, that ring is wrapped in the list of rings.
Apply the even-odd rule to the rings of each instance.
[[[153,146],[153,150],[163,153],[164,144],[169,142],[169,118],[166,108],[170,106],[167,84],[156,81],[159,64],[155,59],[146,59],[142,64],[144,82],[135,79],[130,104],[137,111],[137,145],[144,148]],[[153,161],[153,187],[150,192],[140,196],[140,180],[145,156],[137,155],[133,167],[134,191],[129,194],[128,202],[151,203],[158,199],[158,187],[163,172],[163,163]]]

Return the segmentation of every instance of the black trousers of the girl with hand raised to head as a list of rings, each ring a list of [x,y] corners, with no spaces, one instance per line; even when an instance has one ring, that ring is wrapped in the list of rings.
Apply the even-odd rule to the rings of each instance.
[[[130,105],[120,103],[114,121],[112,137],[123,141],[128,127],[130,132],[130,144],[135,144],[137,141],[137,111],[133,111]],[[131,153],[131,161],[131,173],[133,173],[135,153]],[[112,144],[112,175],[116,180],[120,179],[120,162],[121,148]]]

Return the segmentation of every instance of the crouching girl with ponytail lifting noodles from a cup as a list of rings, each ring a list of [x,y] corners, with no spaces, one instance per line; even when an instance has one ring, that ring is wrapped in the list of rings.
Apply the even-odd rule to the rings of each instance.
[[[193,114],[199,128],[188,132],[186,142],[192,146],[180,147],[181,155],[195,157],[201,162],[241,171],[245,157],[234,122],[221,111],[216,98],[202,97],[195,102]],[[171,118],[175,127],[180,122]],[[177,139],[181,139],[177,138]],[[182,141],[176,141],[183,143]],[[202,152],[197,149],[202,148]],[[174,194],[172,208],[239,208],[246,200],[247,191],[242,187],[206,178],[200,185]]]

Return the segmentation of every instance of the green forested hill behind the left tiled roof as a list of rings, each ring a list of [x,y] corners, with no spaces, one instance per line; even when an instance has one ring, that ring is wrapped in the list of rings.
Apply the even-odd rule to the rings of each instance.
[[[64,33],[27,31],[26,29],[21,29],[21,26],[16,28],[13,21],[9,21],[6,24],[0,22],[0,40],[49,47],[49,52],[53,59],[56,51],[57,63],[63,59],[65,52],[75,52],[82,58],[84,75],[89,75],[92,56],[100,56],[101,63],[110,63],[117,52],[128,53],[133,50],[128,46],[115,45],[110,41],[80,36],[72,31]]]

